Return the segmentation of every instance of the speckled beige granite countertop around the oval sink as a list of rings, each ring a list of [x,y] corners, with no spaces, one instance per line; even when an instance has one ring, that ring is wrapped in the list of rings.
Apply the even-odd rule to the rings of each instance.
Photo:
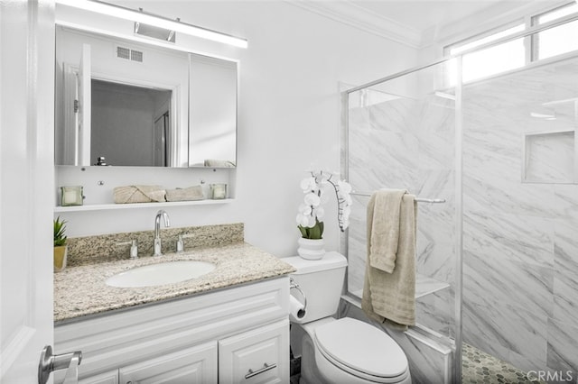
[[[105,283],[111,276],[135,267],[187,260],[209,261],[216,264],[217,268],[197,279],[156,287],[116,288]],[[54,321],[102,314],[114,309],[275,278],[291,272],[294,272],[292,266],[247,242],[167,253],[161,257],[71,267],[54,274]]]

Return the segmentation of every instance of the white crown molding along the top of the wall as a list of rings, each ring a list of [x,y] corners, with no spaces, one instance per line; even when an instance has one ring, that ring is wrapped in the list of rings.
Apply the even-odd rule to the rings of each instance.
[[[352,3],[341,1],[284,0],[315,14],[320,14],[339,23],[379,37],[396,41],[408,47],[421,48],[422,34],[415,28],[398,23],[381,14],[377,14]]]

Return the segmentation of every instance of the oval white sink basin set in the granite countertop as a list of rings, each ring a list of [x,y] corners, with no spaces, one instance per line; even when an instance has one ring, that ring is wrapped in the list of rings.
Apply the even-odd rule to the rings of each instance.
[[[196,279],[214,269],[215,264],[205,261],[169,261],[126,270],[105,282],[120,288],[154,287]]]

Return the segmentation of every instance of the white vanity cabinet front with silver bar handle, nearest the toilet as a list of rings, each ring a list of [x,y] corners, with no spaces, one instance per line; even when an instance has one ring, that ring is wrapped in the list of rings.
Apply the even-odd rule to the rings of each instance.
[[[288,320],[219,341],[219,384],[288,382]]]

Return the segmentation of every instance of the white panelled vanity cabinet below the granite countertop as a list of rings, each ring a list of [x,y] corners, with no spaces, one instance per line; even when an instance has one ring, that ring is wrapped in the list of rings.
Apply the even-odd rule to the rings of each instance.
[[[82,351],[81,384],[288,383],[288,313],[283,276],[61,322],[54,343]]]

